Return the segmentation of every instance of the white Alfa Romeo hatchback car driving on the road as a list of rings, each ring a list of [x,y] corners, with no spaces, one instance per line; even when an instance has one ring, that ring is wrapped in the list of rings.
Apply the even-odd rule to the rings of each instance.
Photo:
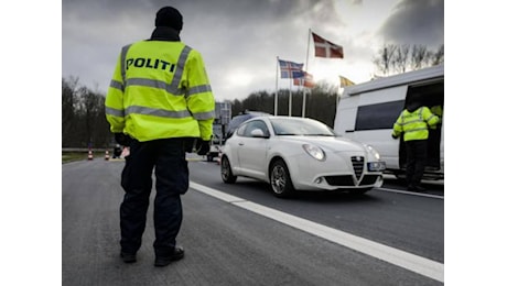
[[[227,140],[220,158],[224,183],[238,176],[269,183],[277,197],[294,190],[364,194],[381,187],[386,163],[366,144],[341,138],[309,118],[258,117]]]

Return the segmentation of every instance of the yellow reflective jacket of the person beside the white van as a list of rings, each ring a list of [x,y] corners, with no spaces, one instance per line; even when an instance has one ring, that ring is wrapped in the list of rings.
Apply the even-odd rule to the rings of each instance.
[[[427,140],[428,128],[434,127],[440,119],[427,107],[420,107],[413,112],[404,109],[392,127],[392,136],[403,133],[403,141]]]

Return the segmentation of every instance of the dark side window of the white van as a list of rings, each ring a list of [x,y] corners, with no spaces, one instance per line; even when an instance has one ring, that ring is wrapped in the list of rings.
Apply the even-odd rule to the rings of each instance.
[[[398,100],[357,108],[355,130],[392,129],[403,105],[404,100]]]

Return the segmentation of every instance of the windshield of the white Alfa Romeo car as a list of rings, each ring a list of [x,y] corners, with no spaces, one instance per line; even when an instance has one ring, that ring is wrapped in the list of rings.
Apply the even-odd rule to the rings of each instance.
[[[326,124],[301,118],[273,118],[271,124],[276,135],[336,136]]]

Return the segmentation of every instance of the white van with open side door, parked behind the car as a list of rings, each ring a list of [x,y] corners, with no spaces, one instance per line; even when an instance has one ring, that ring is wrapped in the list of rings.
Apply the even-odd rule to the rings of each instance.
[[[429,108],[439,107],[441,124],[430,130],[424,179],[444,176],[444,66],[413,70],[344,88],[337,101],[334,130],[353,140],[370,144],[386,162],[387,174],[404,176],[406,154],[402,138],[391,138],[392,125],[413,94]],[[439,112],[435,112],[439,113]]]

